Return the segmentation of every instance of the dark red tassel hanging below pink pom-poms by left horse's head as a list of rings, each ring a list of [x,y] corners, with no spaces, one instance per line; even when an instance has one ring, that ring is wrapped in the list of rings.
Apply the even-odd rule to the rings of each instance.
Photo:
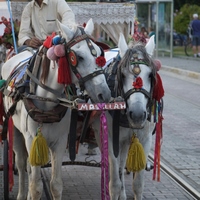
[[[66,85],[70,85],[72,83],[69,63],[65,56],[59,58],[58,60],[58,83]]]

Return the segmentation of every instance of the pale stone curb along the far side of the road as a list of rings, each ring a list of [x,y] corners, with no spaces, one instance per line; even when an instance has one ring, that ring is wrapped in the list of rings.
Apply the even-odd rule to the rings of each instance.
[[[170,67],[170,66],[166,66],[166,65],[162,65],[161,69],[164,71],[178,74],[178,75],[187,76],[189,78],[200,80],[200,73],[198,73],[198,72],[179,69],[179,68]]]

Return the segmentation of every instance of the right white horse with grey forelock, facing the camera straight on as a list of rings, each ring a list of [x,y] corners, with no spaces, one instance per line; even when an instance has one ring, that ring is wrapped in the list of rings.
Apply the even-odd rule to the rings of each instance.
[[[111,65],[110,75],[115,73],[117,78],[115,81],[115,91],[117,95],[122,96],[126,102],[127,108],[121,111],[120,127],[119,127],[119,155],[115,157],[113,150],[113,130],[112,124],[118,126],[118,122],[113,122],[113,118],[107,111],[108,122],[108,146],[109,146],[109,193],[111,200],[125,200],[125,182],[124,169],[127,160],[127,154],[133,134],[136,134],[142,144],[146,156],[146,160],[151,148],[152,131],[154,123],[147,120],[151,115],[152,101],[152,83],[155,79],[156,67],[151,59],[154,51],[154,36],[150,38],[146,46],[141,44],[128,47],[123,34],[120,35],[118,48],[120,53],[120,64],[117,69],[113,70],[114,64]],[[117,56],[116,60],[118,60]],[[109,67],[109,68],[110,68]],[[109,71],[108,68],[108,71]],[[142,85],[137,88],[134,83],[140,77]],[[138,83],[141,84],[141,83]],[[95,131],[97,143],[100,146],[100,120],[97,118],[92,122],[92,127]],[[114,144],[115,145],[115,144]],[[144,189],[144,172],[145,169],[134,173],[133,191],[135,200],[142,199]]]

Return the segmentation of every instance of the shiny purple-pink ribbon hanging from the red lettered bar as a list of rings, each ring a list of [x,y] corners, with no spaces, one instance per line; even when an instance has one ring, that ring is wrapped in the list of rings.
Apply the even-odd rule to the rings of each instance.
[[[101,199],[110,200],[109,195],[109,162],[108,162],[108,125],[104,109],[105,103],[97,104],[102,111],[101,121]]]

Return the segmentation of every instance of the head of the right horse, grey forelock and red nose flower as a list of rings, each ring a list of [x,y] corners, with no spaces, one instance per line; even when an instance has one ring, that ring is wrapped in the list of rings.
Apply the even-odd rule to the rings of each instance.
[[[150,117],[156,74],[156,67],[151,58],[155,47],[154,36],[146,46],[132,43],[128,47],[121,34],[118,47],[122,58],[117,73],[118,92],[127,103],[129,124],[133,128],[142,128]]]

